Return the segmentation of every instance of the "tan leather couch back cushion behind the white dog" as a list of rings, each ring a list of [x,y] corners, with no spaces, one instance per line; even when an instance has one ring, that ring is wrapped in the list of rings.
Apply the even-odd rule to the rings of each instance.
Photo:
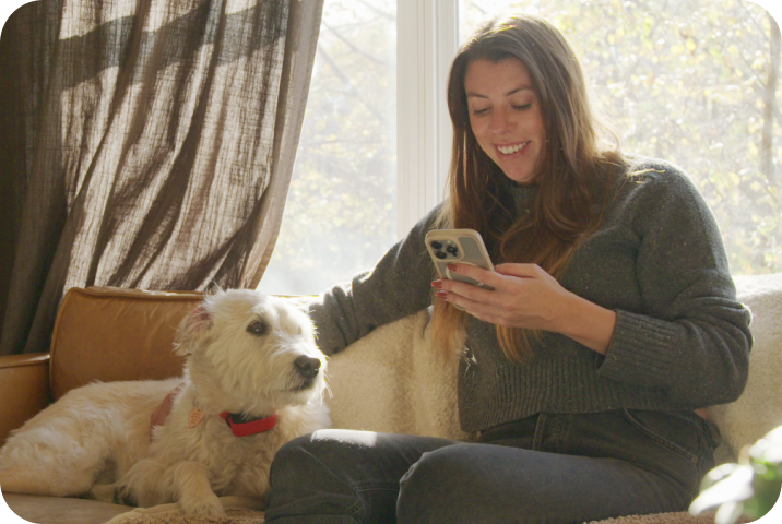
[[[72,288],[57,314],[49,381],[58,400],[94,380],[176,377],[185,359],[171,347],[179,322],[202,299],[197,291]]]

